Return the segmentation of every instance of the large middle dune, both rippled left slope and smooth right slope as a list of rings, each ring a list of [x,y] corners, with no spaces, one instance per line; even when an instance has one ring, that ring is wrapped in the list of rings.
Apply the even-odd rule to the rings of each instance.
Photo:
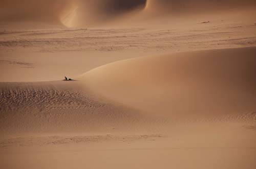
[[[255,123],[255,56],[255,47],[198,51],[114,62],[74,82],[2,82],[0,132]]]

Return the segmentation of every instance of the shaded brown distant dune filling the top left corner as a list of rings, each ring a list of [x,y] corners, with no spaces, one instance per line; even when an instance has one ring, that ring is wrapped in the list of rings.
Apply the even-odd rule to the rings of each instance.
[[[74,1],[17,1],[3,0],[0,2],[0,21],[44,21],[59,22],[59,16],[72,8]]]

